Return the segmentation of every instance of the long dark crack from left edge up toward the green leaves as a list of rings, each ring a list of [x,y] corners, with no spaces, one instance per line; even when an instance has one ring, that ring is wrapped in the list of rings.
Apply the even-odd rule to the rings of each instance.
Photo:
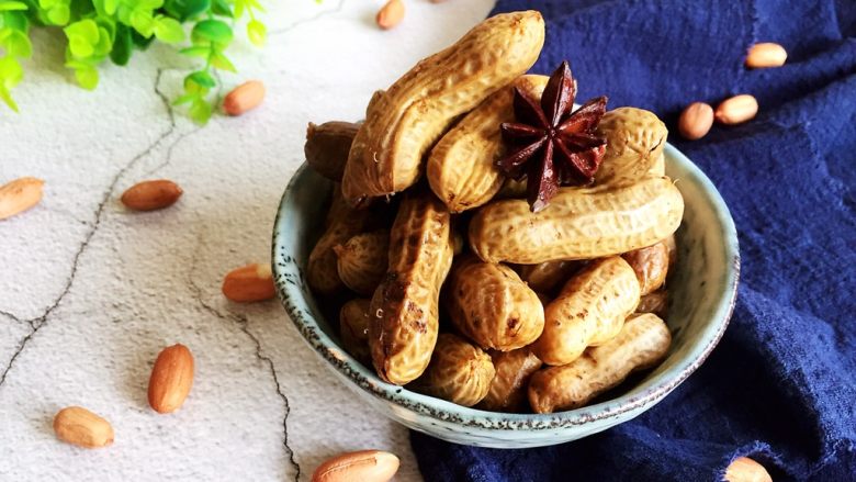
[[[66,294],[71,290],[71,284],[75,282],[75,278],[77,277],[77,269],[80,264],[80,257],[83,255],[83,251],[87,250],[87,247],[89,247],[89,242],[92,240],[92,237],[95,235],[95,232],[98,231],[99,226],[101,225],[101,217],[104,214],[104,208],[106,208],[108,202],[110,202],[110,199],[113,197],[113,191],[116,188],[116,184],[119,184],[119,181],[122,179],[122,177],[125,175],[125,172],[128,171],[134,165],[136,165],[137,161],[143,159],[144,157],[148,156],[158,145],[160,145],[164,139],[169,137],[174,131],[176,131],[176,116],[172,112],[172,108],[169,104],[169,101],[166,96],[164,96],[162,92],[158,89],[158,85],[160,83],[160,76],[164,74],[162,69],[158,69],[157,77],[155,79],[155,93],[160,97],[160,99],[164,101],[164,105],[167,108],[167,112],[169,114],[169,128],[164,131],[157,139],[155,139],[154,143],[149,144],[148,147],[146,147],[143,152],[134,156],[125,166],[123,166],[113,176],[112,181],[110,182],[110,186],[105,190],[103,197],[101,198],[101,202],[98,204],[98,209],[95,210],[95,221],[92,223],[92,227],[87,233],[86,237],[83,238],[83,243],[80,244],[80,247],[78,247],[77,253],[75,253],[75,257],[71,261],[71,273],[66,279],[66,284],[63,287],[63,291],[59,293],[59,295],[54,300],[54,302],[48,306],[42,315],[30,321],[30,326],[32,327],[32,330],[21,339],[21,343],[18,345],[18,349],[15,349],[15,352],[12,354],[12,357],[9,359],[9,362],[3,368],[2,373],[0,373],[0,388],[3,386],[3,383],[5,383],[5,378],[9,374],[9,371],[12,369],[12,367],[15,363],[15,360],[21,355],[21,352],[26,348],[26,345],[30,343],[30,340],[35,336],[36,333],[47,323],[48,316],[50,316],[50,313],[53,313],[54,310],[59,306],[59,303],[63,302],[63,299],[66,298]]]

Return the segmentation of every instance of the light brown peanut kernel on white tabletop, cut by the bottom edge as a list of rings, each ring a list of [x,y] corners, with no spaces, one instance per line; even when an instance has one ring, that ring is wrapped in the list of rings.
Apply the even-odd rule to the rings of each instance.
[[[328,459],[312,482],[386,482],[398,471],[398,458],[381,450],[361,450]]]

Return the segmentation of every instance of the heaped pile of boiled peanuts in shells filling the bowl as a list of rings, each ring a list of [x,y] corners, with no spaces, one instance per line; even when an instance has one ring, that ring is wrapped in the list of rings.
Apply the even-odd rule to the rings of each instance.
[[[595,181],[532,213],[507,149],[514,88],[543,45],[539,12],[487,19],[374,94],[360,124],[309,124],[335,184],[307,282],[342,347],[386,382],[497,412],[583,406],[666,356],[665,281],[684,201],[656,115],[608,111]],[[397,195],[393,195],[397,194]]]

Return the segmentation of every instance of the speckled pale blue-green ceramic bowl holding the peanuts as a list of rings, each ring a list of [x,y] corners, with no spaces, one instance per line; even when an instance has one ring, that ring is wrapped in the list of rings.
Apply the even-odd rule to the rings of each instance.
[[[459,406],[379,379],[339,345],[338,321],[322,315],[304,270],[323,228],[333,183],[305,165],[292,178],[273,231],[273,273],[282,304],[309,346],[367,405],[407,427],[457,444],[520,448],[575,440],[627,422],[663,400],[717,346],[736,295],[740,255],[734,222],[707,176],[672,146],[667,173],[686,204],[677,233],[678,262],[669,278],[666,360],[633,378],[608,400],[549,415],[504,414]]]

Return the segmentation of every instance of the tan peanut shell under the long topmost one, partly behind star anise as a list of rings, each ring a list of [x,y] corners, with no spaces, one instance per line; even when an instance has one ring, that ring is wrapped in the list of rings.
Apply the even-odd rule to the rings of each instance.
[[[515,88],[540,99],[548,80],[545,76],[515,79],[466,114],[431,149],[428,182],[449,211],[477,208],[499,191],[506,178],[495,162],[505,155],[506,145],[497,127],[515,121]]]

